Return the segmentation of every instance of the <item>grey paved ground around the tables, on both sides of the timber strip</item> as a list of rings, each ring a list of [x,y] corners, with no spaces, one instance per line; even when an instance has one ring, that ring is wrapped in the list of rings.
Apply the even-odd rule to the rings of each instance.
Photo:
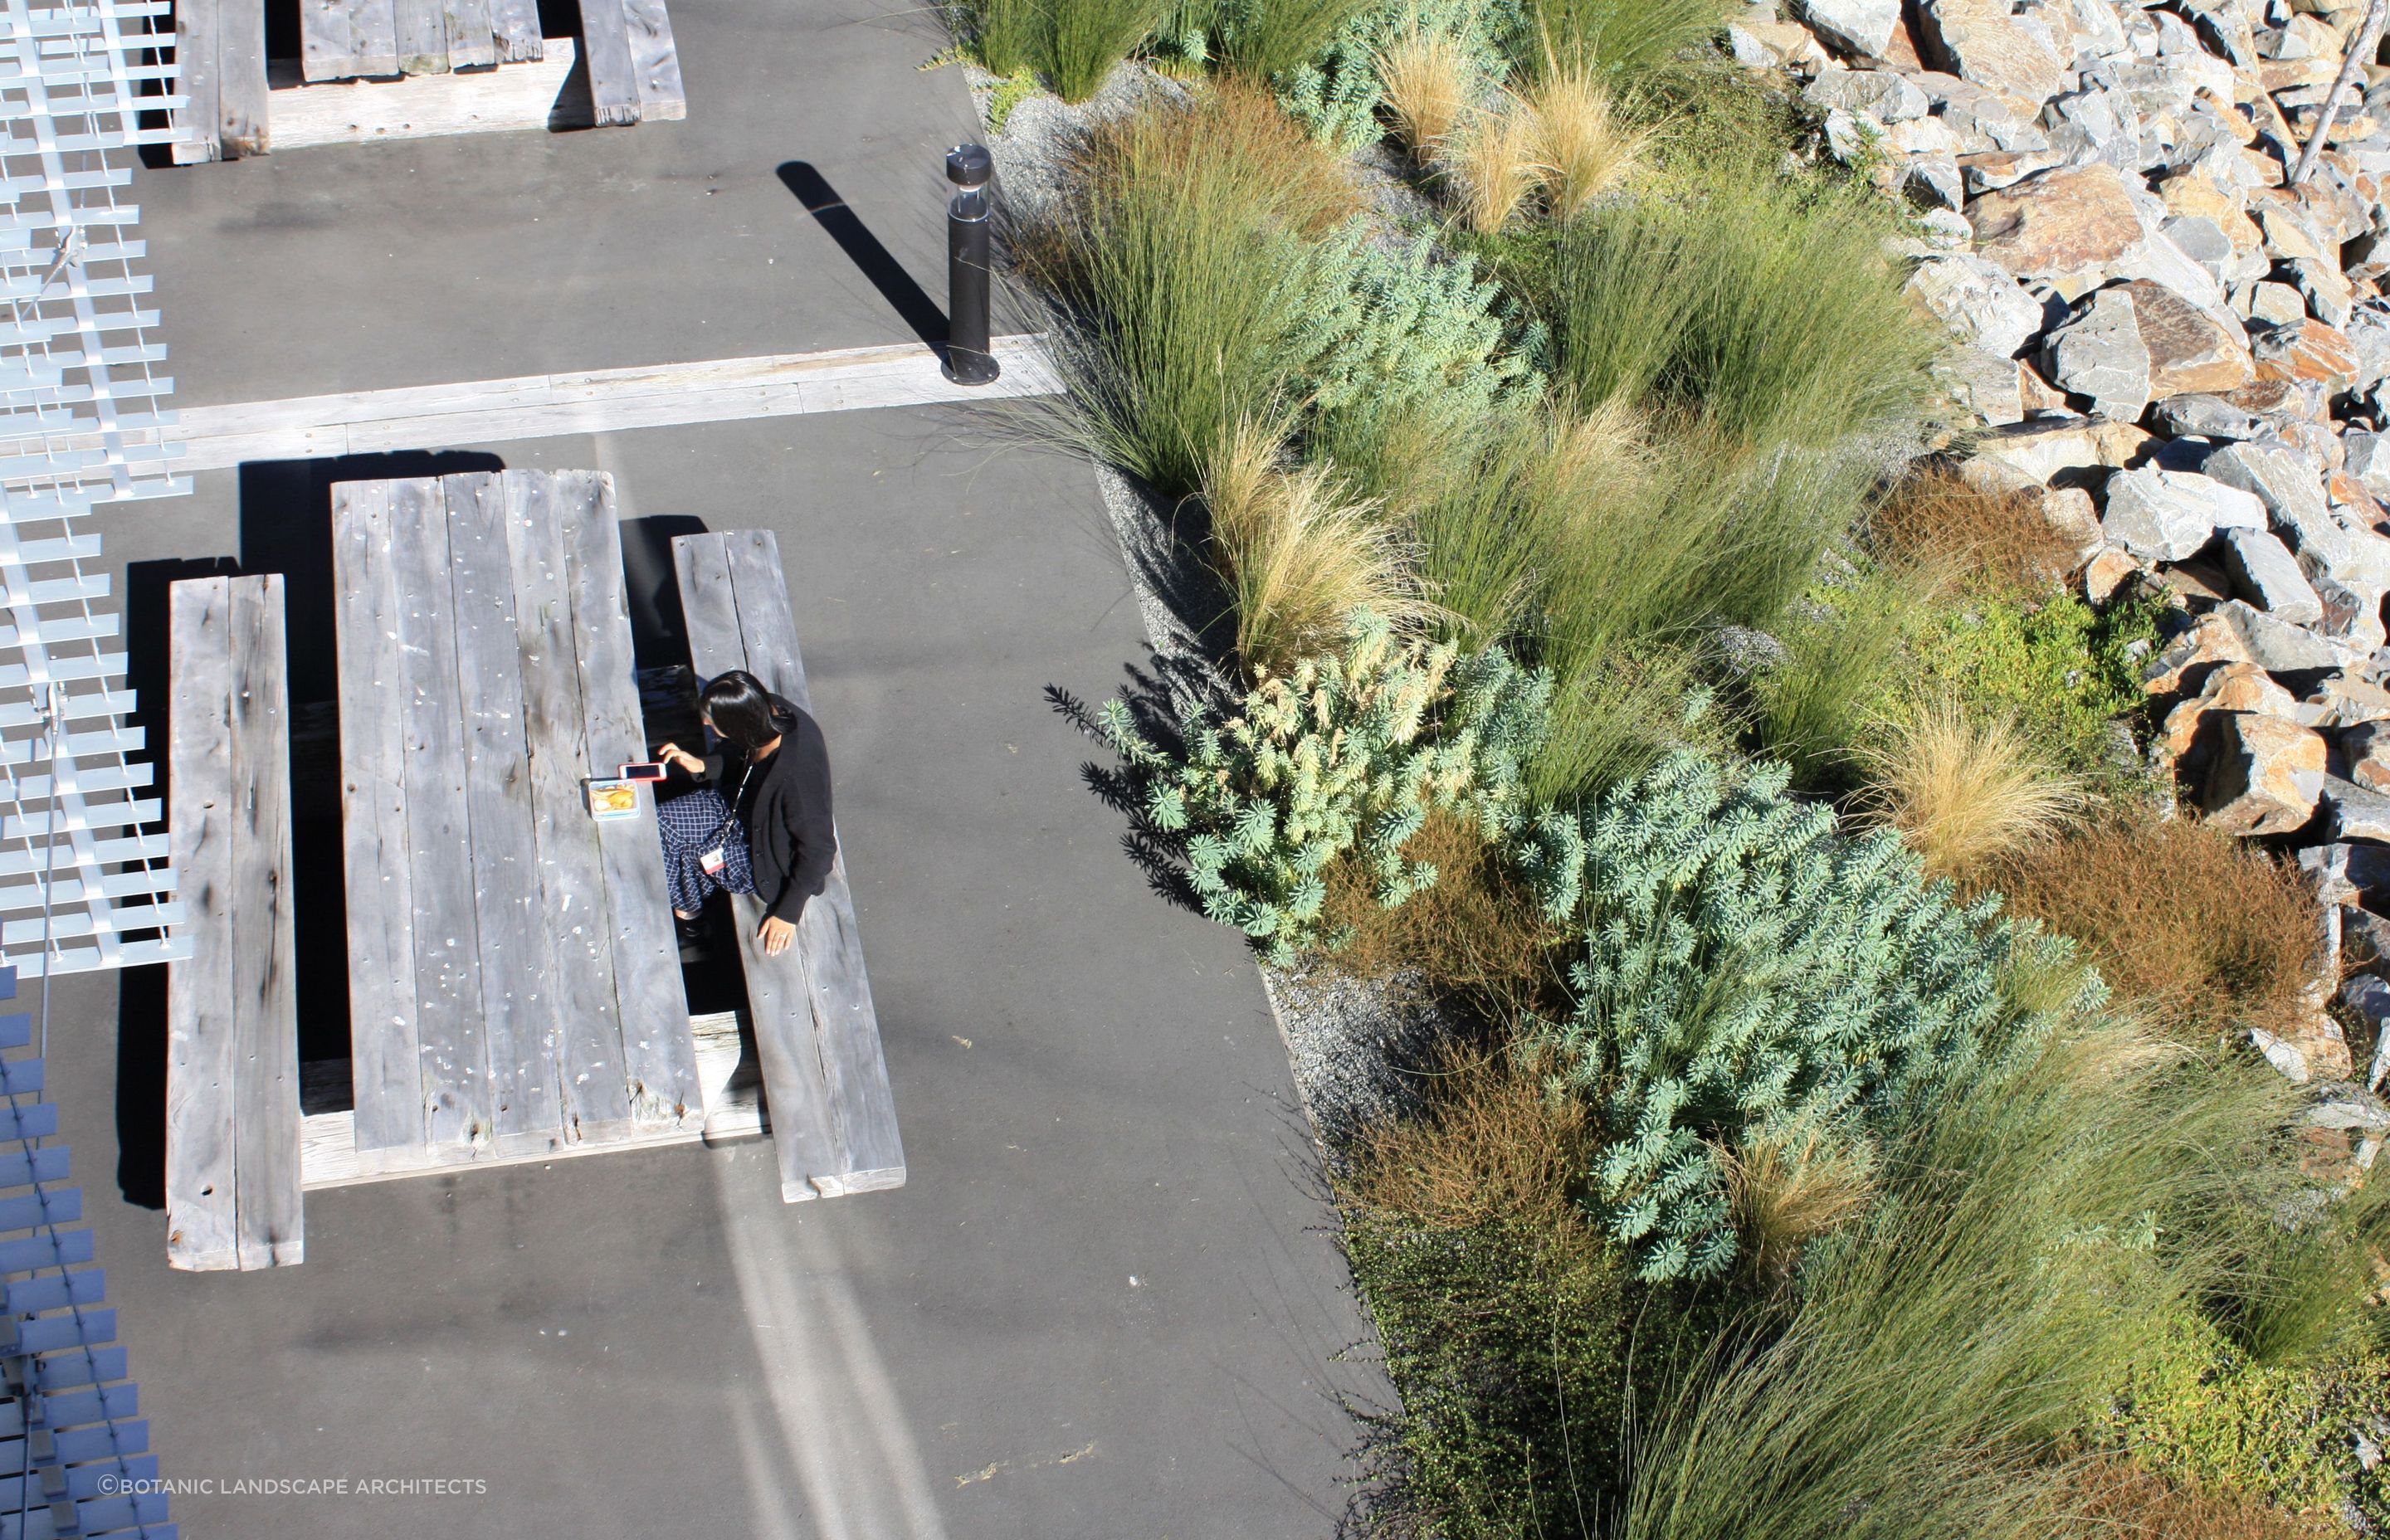
[[[179,397],[911,335],[777,167],[820,165],[932,282],[932,153],[968,132],[958,77],[915,69],[934,38],[700,0],[674,31],[688,124],[143,172]],[[1381,1392],[1338,1361],[1367,1327],[1283,1043],[1238,937],[1145,890],[1042,703],[1142,658],[1087,466],[939,411],[445,447],[614,473],[648,660],[664,536],[779,531],[911,1181],[786,1208],[767,1145],[406,1179],[311,1193],[301,1267],[174,1275],[163,985],[62,978],[55,1086],[165,1471],[483,1483],[177,1497],[184,1533],[1334,1533],[1341,1397]],[[323,485],[416,469],[246,466],[98,519],[136,682],[163,581],[234,560],[289,574],[294,696],[330,698]],[[323,1045],[337,825],[296,839]]]

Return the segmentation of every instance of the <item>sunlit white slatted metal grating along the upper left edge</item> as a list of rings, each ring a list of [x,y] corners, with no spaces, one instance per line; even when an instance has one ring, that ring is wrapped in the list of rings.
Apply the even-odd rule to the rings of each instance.
[[[100,540],[76,528],[191,490],[120,203],[134,146],[172,141],[170,38],[165,0],[0,0],[0,961],[26,978],[189,957],[108,574],[86,572]]]

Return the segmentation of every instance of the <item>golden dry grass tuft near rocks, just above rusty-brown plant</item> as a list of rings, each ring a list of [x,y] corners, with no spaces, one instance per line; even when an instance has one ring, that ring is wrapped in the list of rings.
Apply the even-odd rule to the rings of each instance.
[[[2012,717],[1972,715],[1950,698],[1893,722],[1862,758],[1862,801],[1936,878],[1967,880],[1986,861],[2046,844],[2084,808],[2082,780],[2053,768]]]

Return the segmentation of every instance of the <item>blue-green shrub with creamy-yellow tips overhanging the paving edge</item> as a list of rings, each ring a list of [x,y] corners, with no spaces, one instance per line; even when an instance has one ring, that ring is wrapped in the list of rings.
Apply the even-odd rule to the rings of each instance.
[[[1181,842],[1205,913],[1286,966],[1300,947],[1334,947],[1322,873],[1346,851],[1391,909],[1436,880],[1403,854],[1432,808],[1489,835],[1520,815],[1520,760],[1549,693],[1499,648],[1405,643],[1362,610],[1343,653],[1262,679],[1226,722],[1190,715],[1183,751],[1154,746],[1119,698],[1099,722],[1145,815]]]

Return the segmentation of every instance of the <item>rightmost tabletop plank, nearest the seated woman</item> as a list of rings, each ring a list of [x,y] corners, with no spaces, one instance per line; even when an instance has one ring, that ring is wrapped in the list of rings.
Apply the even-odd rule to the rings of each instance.
[[[621,765],[648,756],[631,658],[631,605],[614,521],[614,478],[602,471],[557,473],[557,512],[571,550],[574,634],[581,638],[581,713],[588,756]],[[621,1004],[624,1067],[631,1112],[643,1126],[703,1122],[698,1055],[688,1038],[688,992],[664,897],[664,858],[655,801],[638,796],[638,818],[598,825],[607,916],[614,925],[614,988]]]

